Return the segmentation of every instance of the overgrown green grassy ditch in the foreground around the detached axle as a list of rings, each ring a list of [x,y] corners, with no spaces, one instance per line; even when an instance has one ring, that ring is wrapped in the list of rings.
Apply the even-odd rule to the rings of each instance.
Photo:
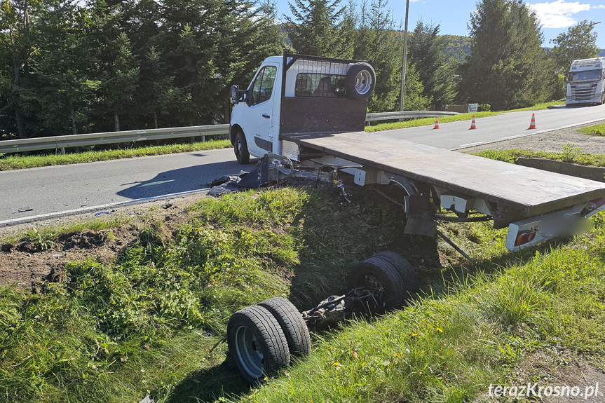
[[[273,189],[204,199],[113,262],[74,262],[39,294],[0,289],[0,402],[385,402],[477,399],[533,351],[603,362],[605,216],[595,230],[510,254],[489,224],[440,228],[480,263],[402,235],[374,193]],[[465,229],[466,228],[466,229]],[[314,336],[312,356],[250,390],[222,364],[229,315],[268,296],[309,308],[355,262],[407,245],[421,294],[405,310]],[[442,259],[443,261],[443,259]]]

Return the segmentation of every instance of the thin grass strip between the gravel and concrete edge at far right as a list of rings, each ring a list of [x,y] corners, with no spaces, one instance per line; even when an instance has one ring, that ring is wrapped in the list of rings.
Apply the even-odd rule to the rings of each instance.
[[[474,153],[477,156],[501,160],[507,163],[515,163],[519,157],[524,158],[546,158],[549,160],[563,161],[578,165],[588,165],[594,167],[605,167],[605,155],[582,153],[580,147],[574,147],[573,144],[564,144],[563,151],[560,153],[550,151],[529,151],[529,150],[485,150]]]

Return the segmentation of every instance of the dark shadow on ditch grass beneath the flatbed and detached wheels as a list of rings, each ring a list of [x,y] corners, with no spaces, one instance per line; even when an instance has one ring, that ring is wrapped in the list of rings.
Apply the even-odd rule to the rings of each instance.
[[[500,268],[526,264],[551,247],[569,243],[571,238],[555,240],[519,253],[503,253],[478,264],[462,258],[447,268],[442,266],[439,245],[434,238],[405,235],[405,219],[400,207],[384,203],[370,189],[356,191],[354,203],[341,196],[311,198],[294,222],[292,231],[304,240],[300,264],[290,278],[290,299],[306,310],[330,294],[346,292],[346,275],[353,265],[381,250],[393,250],[406,257],[421,280],[418,299],[455,292],[469,275],[496,273]],[[374,320],[374,319],[371,319]],[[379,320],[376,319],[376,320]],[[329,332],[329,331],[328,331]],[[330,333],[320,334],[329,340]],[[225,363],[197,371],[179,383],[163,402],[214,402],[220,397],[237,399],[252,389]]]

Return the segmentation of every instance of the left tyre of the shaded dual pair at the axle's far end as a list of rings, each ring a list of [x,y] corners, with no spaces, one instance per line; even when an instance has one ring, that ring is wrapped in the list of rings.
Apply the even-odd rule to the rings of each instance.
[[[405,283],[397,269],[388,261],[370,257],[353,267],[348,276],[348,285],[383,289],[383,308],[399,309],[405,302]]]

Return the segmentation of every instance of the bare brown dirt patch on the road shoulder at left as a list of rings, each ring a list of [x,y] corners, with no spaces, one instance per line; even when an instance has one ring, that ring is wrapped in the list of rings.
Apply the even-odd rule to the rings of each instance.
[[[186,196],[171,200],[156,200],[144,205],[119,207],[110,214],[95,216],[86,212],[29,224],[0,228],[0,285],[13,285],[16,289],[36,290],[42,281],[60,281],[64,267],[74,261],[95,259],[111,262],[137,239],[139,230],[151,222],[163,221],[166,231],[189,219],[186,207],[205,197]],[[125,221],[125,224],[98,231],[62,233],[62,227],[94,221]],[[49,240],[11,241],[26,231],[56,228],[60,235]]]

